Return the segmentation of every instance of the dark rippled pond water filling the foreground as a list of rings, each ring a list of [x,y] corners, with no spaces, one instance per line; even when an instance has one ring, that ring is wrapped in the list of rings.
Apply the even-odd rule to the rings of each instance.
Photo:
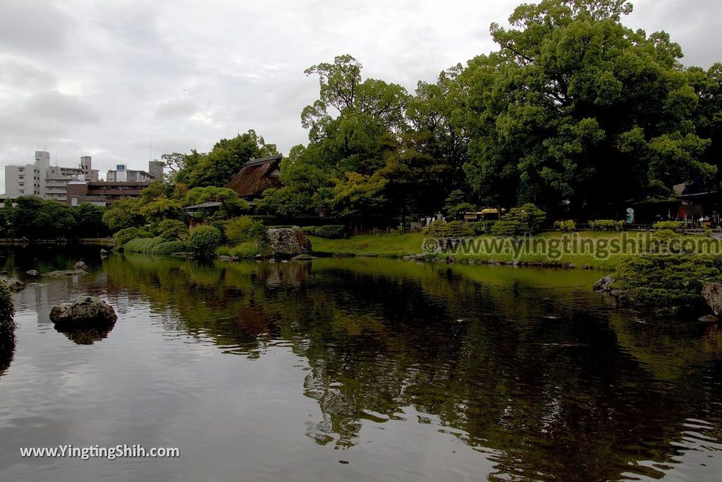
[[[90,266],[14,295],[1,481],[721,480],[722,329],[620,310],[599,272],[0,254]],[[53,328],[78,294],[112,330]],[[19,454],[64,444],[180,457]]]

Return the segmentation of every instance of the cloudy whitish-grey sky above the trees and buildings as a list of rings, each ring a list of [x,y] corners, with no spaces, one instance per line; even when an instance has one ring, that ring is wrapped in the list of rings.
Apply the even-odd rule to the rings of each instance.
[[[84,153],[101,173],[146,169],[151,152],[206,152],[249,128],[287,153],[318,96],[308,66],[350,53],[413,90],[494,49],[490,23],[519,3],[0,0],[0,165],[47,148],[60,165]],[[722,61],[717,1],[637,0],[625,22],[670,32],[687,64]]]

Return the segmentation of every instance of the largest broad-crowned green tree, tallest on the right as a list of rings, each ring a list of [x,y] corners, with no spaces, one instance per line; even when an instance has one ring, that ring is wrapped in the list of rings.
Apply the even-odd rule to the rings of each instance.
[[[682,50],[664,32],[622,25],[631,9],[544,0],[519,6],[510,28],[492,25],[499,50],[459,75],[465,170],[482,201],[591,214],[657,182],[713,177]]]

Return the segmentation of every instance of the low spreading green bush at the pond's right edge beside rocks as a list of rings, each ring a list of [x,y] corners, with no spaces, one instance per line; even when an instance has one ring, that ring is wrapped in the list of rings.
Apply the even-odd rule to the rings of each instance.
[[[632,302],[681,306],[702,302],[702,286],[722,281],[722,257],[708,255],[643,255],[627,258],[612,275],[614,288]]]

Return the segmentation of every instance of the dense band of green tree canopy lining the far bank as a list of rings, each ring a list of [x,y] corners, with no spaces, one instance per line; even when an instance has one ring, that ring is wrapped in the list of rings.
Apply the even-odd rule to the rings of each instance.
[[[495,51],[414,93],[365,79],[349,55],[310,66],[319,90],[301,113],[308,144],[284,157],[282,187],[256,213],[403,223],[534,203],[550,220],[591,218],[668,198],[679,183],[718,185],[722,64],[682,66],[668,34],[622,24],[631,11],[625,0],[523,4],[508,27],[491,26]],[[166,154],[170,184],[143,204],[187,205],[276,152],[248,131],[207,154]]]

